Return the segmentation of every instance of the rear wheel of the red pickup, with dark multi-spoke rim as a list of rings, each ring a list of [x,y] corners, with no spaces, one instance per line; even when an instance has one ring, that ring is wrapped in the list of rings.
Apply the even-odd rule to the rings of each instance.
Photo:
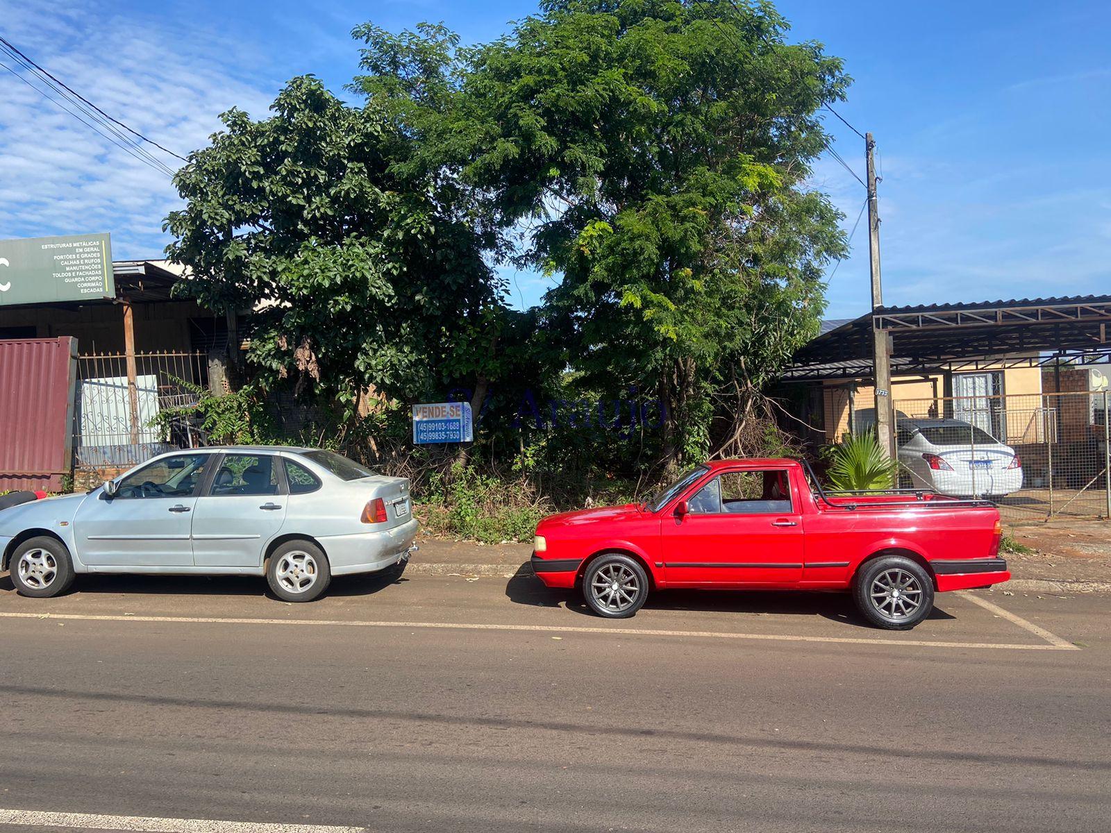
[[[909,631],[933,610],[933,580],[917,561],[882,555],[857,572],[852,596],[872,624]]]

